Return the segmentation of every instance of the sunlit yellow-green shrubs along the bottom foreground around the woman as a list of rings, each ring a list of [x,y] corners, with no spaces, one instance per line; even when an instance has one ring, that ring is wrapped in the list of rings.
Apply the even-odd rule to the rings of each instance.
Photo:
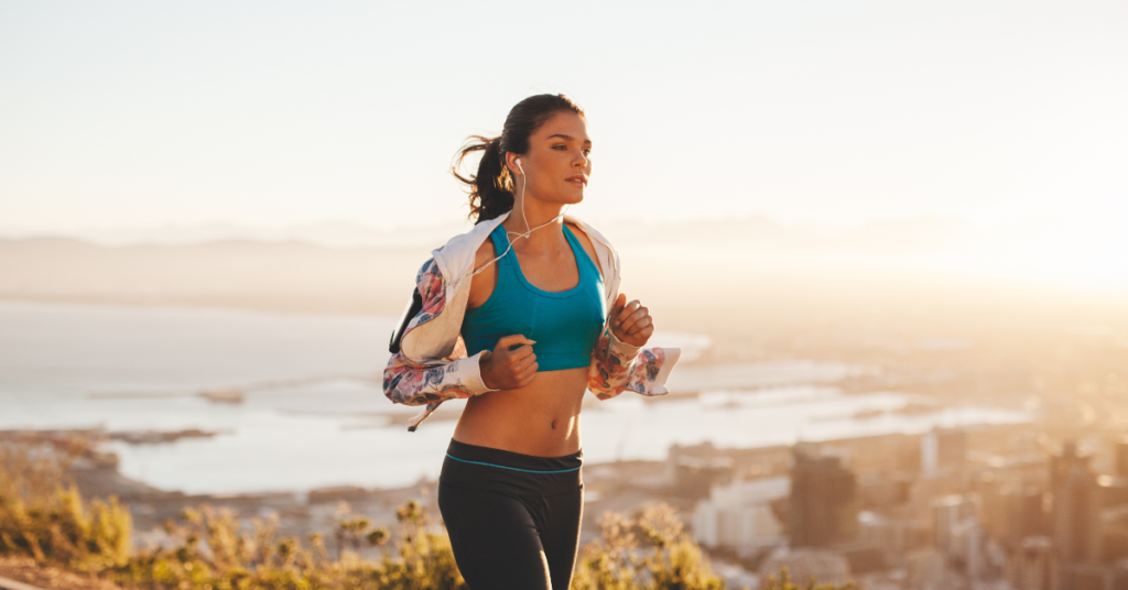
[[[232,512],[208,505],[165,523],[169,547],[133,552],[129,512],[115,499],[85,502],[65,482],[71,453],[82,449],[0,442],[0,555],[28,555],[130,590],[466,590],[446,530],[414,501],[397,510],[396,531],[345,514],[333,558],[319,534],[307,547],[279,538],[276,519],[255,519],[248,531]],[[573,590],[723,590],[670,507],[629,519],[608,512],[600,525],[601,537],[580,553]],[[380,558],[360,558],[364,544]],[[786,572],[766,587],[800,588],[817,587],[796,587]]]

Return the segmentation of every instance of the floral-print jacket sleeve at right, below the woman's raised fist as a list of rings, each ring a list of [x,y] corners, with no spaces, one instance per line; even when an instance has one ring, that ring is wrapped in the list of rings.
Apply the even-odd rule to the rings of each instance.
[[[681,349],[643,349],[627,344],[611,334],[605,324],[603,334],[591,353],[588,389],[600,399],[610,399],[631,390],[645,396],[666,395],[666,380],[678,362]]]

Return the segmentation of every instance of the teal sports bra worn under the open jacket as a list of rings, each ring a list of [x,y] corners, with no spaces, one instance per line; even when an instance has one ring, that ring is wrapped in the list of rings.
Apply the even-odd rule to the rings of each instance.
[[[490,234],[497,253],[509,248],[509,236],[499,224]],[[467,309],[462,318],[462,341],[469,356],[493,350],[502,336],[523,334],[536,341],[537,371],[576,369],[591,364],[591,351],[607,317],[603,279],[583,246],[564,226],[572,247],[580,283],[567,291],[544,291],[521,272],[517,253],[510,250],[495,264],[497,284],[481,307]]]

